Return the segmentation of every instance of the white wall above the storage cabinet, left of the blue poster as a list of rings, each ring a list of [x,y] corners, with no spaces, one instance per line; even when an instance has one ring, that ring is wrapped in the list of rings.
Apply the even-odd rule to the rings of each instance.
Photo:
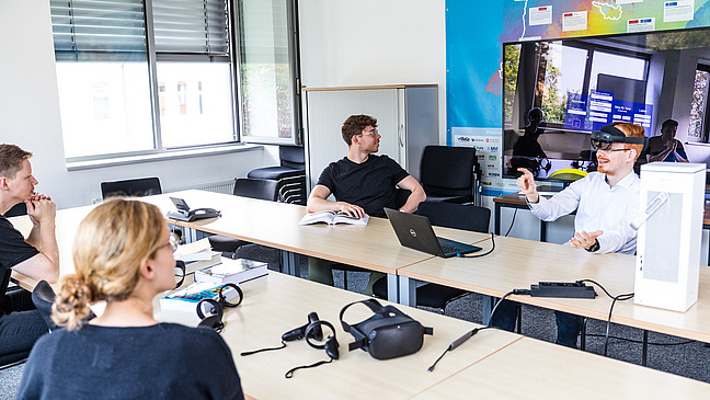
[[[300,0],[302,84],[437,83],[446,144],[444,0]]]

